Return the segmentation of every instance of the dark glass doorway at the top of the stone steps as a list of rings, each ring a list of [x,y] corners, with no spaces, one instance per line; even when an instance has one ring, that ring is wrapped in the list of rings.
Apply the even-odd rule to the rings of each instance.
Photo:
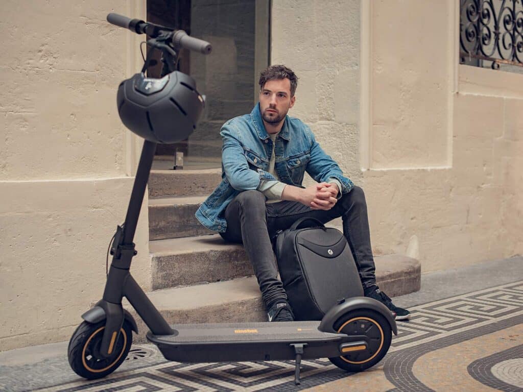
[[[269,0],[147,0],[147,20],[183,29],[213,47],[208,56],[180,53],[178,68],[195,78],[206,109],[188,140],[157,146],[155,167],[164,160],[172,168],[176,151],[189,168],[219,167],[220,128],[251,112],[259,72],[269,64]],[[160,65],[150,72],[159,73]]]

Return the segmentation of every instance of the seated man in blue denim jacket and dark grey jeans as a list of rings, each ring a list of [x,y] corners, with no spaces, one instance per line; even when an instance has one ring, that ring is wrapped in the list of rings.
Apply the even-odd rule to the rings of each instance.
[[[243,243],[269,321],[293,320],[277,278],[272,235],[301,217],[323,223],[342,217],[365,295],[385,304],[396,319],[408,319],[410,312],[394,306],[376,285],[363,190],[343,176],[307,125],[287,116],[296,101],[296,75],[283,65],[273,65],[261,72],[259,85],[259,103],[251,114],[222,126],[222,182],[196,217],[226,241]],[[305,171],[315,185],[302,187]]]

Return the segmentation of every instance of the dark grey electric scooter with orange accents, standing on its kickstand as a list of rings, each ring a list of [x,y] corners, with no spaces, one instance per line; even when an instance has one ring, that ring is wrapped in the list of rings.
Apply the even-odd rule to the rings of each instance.
[[[350,372],[362,371],[378,363],[389,350],[392,332],[397,334],[396,324],[388,308],[374,299],[362,296],[358,276],[354,282],[348,282],[354,287],[351,295],[340,298],[321,321],[167,324],[129,272],[131,260],[137,255],[133,238],[156,144],[186,139],[196,128],[195,123],[201,111],[198,105],[204,103],[194,81],[176,71],[176,51],[186,48],[208,54],[211,45],[187,36],[182,30],[173,30],[139,19],[109,14],[107,20],[133,32],[146,33],[150,37],[147,43],[151,49],[147,53],[142,73],[122,82],[117,98],[119,114],[124,124],[146,140],[126,219],[124,224],[117,227],[110,245],[112,262],[103,299],[82,315],[84,321],[69,342],[67,354],[73,371],[88,379],[100,378],[115,371],[126,359],[132,343],[132,331],[138,333],[138,327],[131,314],[123,309],[123,297],[128,299],[149,327],[147,339],[157,345],[167,360],[295,360],[294,382],[297,385],[300,384],[302,359],[328,358],[336,366]],[[153,61],[152,48],[163,53],[163,71],[159,79],[144,76],[147,66]],[[169,86],[172,90],[169,90]],[[154,98],[155,95],[161,97],[168,91],[175,93],[168,99]],[[132,94],[139,103],[142,102],[140,105],[131,105]],[[177,108],[179,110],[176,113],[180,117],[162,130],[163,122],[166,121],[158,122],[154,115],[156,109],[153,108],[147,109],[145,122],[139,118],[139,113],[147,99],[154,100],[155,105],[163,105],[163,101],[170,105],[157,113],[172,113]],[[124,115],[122,113],[125,110],[127,114]],[[158,116],[161,117],[161,114]],[[137,128],[136,124],[140,121],[144,121],[144,125]],[[183,129],[173,131],[177,125]],[[157,130],[154,137],[151,136],[153,129]]]

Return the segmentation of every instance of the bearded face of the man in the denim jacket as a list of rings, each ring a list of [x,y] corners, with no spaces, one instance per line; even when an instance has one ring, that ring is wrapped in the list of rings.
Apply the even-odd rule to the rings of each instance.
[[[261,117],[269,124],[277,124],[285,119],[295,100],[289,79],[268,80],[260,90]]]

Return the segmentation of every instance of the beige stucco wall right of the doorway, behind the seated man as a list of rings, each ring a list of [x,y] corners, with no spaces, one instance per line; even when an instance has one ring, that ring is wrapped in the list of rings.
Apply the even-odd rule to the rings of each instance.
[[[294,116],[367,195],[373,250],[423,272],[523,253],[523,75],[458,66],[459,2],[275,0]]]

